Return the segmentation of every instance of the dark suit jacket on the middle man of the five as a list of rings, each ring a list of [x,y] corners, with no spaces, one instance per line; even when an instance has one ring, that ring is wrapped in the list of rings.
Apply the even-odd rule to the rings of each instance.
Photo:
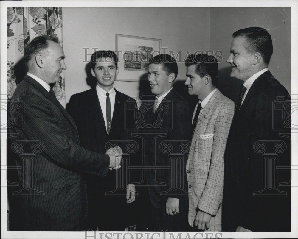
[[[186,161],[191,138],[191,113],[187,101],[172,89],[153,114],[154,97],[142,103],[137,118],[143,117],[145,121],[142,124],[146,129],[145,182],[151,203],[162,208],[168,197],[187,200]]]

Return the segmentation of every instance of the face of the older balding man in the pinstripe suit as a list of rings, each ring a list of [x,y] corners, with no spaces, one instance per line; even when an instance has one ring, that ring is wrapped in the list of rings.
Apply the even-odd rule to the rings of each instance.
[[[48,41],[48,47],[41,52],[43,67],[41,75],[47,84],[60,81],[60,73],[66,70],[64,52],[62,47],[53,41]]]

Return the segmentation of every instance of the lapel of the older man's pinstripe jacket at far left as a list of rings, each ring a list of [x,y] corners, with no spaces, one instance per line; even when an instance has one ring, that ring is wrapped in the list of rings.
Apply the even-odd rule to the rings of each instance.
[[[24,80],[30,83],[34,88],[36,88],[41,94],[43,94],[47,99],[52,101],[61,111],[61,113],[64,115],[64,117],[72,124],[72,126],[75,126],[75,122],[70,117],[70,115],[66,112],[66,110],[63,108],[63,106],[60,104],[60,102],[57,99],[54,99],[53,96],[41,85],[39,84],[35,79],[32,77],[26,75],[24,77]]]

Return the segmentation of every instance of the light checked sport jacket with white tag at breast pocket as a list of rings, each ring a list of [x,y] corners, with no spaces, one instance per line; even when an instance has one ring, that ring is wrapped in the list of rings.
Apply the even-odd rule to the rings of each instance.
[[[197,107],[198,105],[193,117]],[[216,89],[198,118],[186,165],[190,187],[190,226],[193,226],[197,210],[200,209],[214,216],[211,218],[209,230],[221,231],[224,151],[233,115],[234,102]]]

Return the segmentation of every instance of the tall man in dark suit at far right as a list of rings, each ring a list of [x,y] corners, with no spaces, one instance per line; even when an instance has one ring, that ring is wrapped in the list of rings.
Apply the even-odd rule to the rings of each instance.
[[[222,229],[291,231],[291,143],[286,128],[291,116],[283,110],[289,93],[267,68],[273,52],[270,34],[249,27],[232,36],[227,62],[231,77],[244,83],[225,151]],[[275,108],[274,101],[283,107]]]

